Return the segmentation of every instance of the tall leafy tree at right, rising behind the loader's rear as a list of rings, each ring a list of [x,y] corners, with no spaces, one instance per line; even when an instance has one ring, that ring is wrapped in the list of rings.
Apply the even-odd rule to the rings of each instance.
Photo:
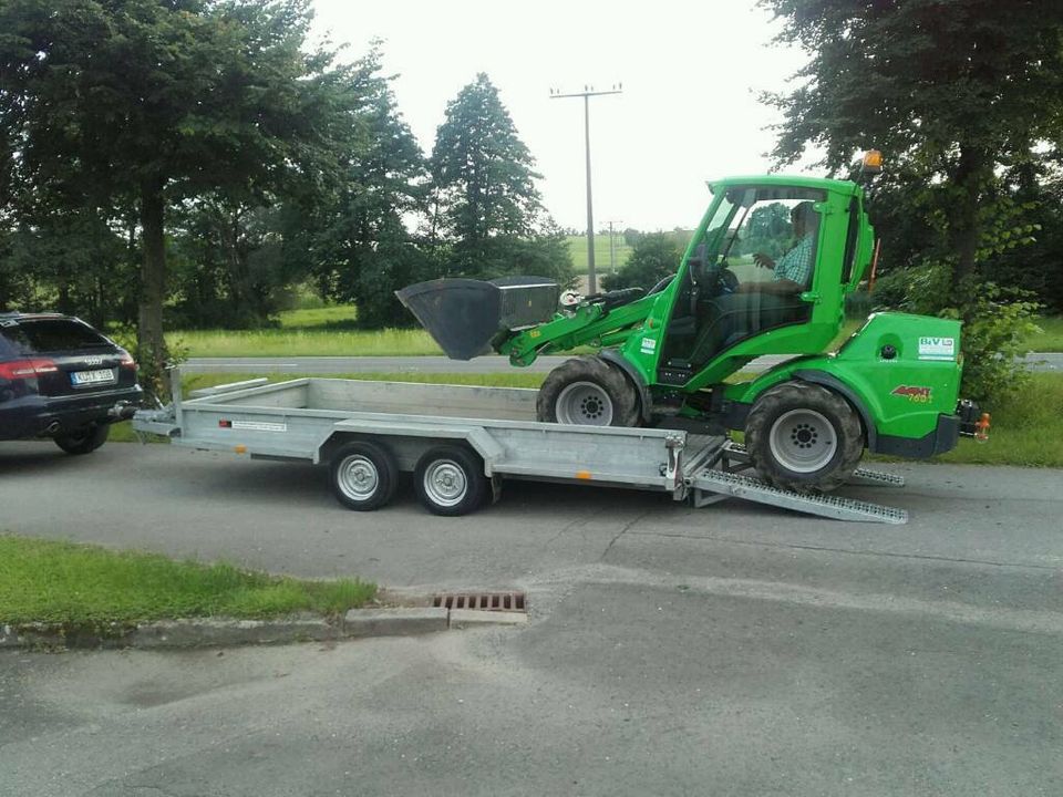
[[[878,147],[945,232],[954,294],[969,299],[998,176],[1063,142],[1063,6],[1057,0],[761,0],[780,41],[811,61],[772,101],[775,156],[806,144],[843,170]],[[932,196],[919,188],[926,188]],[[982,210],[980,213],[980,209]]]

